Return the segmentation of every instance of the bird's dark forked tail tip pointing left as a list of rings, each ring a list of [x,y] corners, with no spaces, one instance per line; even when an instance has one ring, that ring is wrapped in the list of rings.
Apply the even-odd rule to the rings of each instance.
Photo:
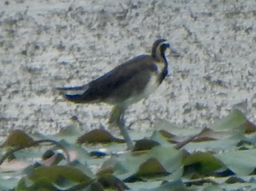
[[[87,85],[77,86],[77,87],[57,87],[57,90],[67,98],[70,102],[82,103],[85,102],[83,99],[83,93],[88,89]]]

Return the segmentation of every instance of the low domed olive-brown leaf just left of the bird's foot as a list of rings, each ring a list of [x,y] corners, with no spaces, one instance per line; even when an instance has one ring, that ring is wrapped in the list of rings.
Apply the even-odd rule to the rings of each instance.
[[[124,143],[123,139],[118,139],[111,135],[108,131],[104,129],[95,129],[87,134],[82,135],[78,138],[77,143],[83,144],[83,143],[111,143],[111,142],[117,142],[117,143]]]

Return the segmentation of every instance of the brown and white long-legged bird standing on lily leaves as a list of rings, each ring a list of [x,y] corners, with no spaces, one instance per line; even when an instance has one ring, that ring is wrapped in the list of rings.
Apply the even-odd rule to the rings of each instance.
[[[127,147],[132,148],[133,143],[124,127],[125,109],[148,98],[163,82],[168,74],[167,49],[171,50],[173,56],[180,56],[170,48],[166,39],[157,39],[151,55],[134,57],[85,85],[57,89],[67,100],[76,104],[104,102],[113,105],[109,122],[118,124]]]

